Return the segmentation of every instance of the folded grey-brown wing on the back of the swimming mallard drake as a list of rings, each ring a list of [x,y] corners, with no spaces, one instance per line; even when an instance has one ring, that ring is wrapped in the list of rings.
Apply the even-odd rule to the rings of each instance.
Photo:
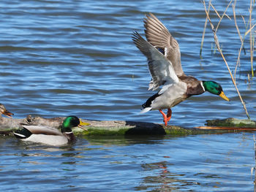
[[[47,135],[60,135],[62,136],[63,134],[61,131],[59,131],[57,128],[52,128],[48,126],[25,126],[22,125],[23,128],[28,129],[31,134],[47,134]]]

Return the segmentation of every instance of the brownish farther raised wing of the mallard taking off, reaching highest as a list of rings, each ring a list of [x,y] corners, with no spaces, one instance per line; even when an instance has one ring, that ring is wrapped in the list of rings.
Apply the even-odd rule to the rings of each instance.
[[[144,18],[144,27],[148,42],[161,50],[173,64],[173,68],[178,76],[184,74],[178,42],[172,37],[168,29],[152,13],[149,13]]]

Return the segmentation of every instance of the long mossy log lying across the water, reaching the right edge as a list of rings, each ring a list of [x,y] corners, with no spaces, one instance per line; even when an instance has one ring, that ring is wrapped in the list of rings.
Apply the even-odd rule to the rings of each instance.
[[[32,117],[28,115],[24,119],[16,118],[4,118],[0,117],[0,134],[11,134],[18,128],[21,128],[21,123],[37,125],[37,126],[50,126],[59,128],[61,126],[63,118],[42,118],[39,116]],[[234,124],[231,124],[231,128],[219,128],[225,127],[222,123],[231,122],[230,118],[226,120],[211,120],[208,121],[208,126],[198,128],[182,128],[179,126],[165,126],[158,123],[146,123],[124,120],[83,120],[90,123],[90,126],[86,126],[88,131],[83,131],[80,128],[75,128],[75,134],[82,135],[173,135],[184,136],[189,134],[218,134],[234,131],[255,131],[256,124],[251,124],[251,127],[236,128]],[[215,122],[215,124],[214,124]],[[233,121],[232,121],[233,122]],[[252,121],[251,123],[253,123]],[[238,121],[237,121],[238,123]],[[255,122],[254,122],[255,123]],[[238,123],[239,124],[239,123]],[[241,123],[240,123],[241,124]],[[244,124],[243,124],[244,125]]]

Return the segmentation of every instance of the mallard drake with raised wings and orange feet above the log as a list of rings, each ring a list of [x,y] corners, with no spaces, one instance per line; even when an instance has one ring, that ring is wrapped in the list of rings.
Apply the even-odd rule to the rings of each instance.
[[[159,110],[167,126],[172,115],[170,108],[190,96],[208,91],[230,101],[219,83],[200,81],[184,74],[178,42],[156,16],[149,13],[143,22],[147,41],[136,31],[132,35],[132,40],[148,59],[148,69],[152,77],[148,90],[155,91],[161,85],[162,89],[142,105],[141,113]],[[164,109],[167,109],[167,115],[162,112]]]

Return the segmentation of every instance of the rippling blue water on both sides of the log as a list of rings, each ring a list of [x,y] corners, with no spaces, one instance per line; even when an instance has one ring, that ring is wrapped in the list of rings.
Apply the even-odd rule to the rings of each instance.
[[[212,1],[223,12],[227,1]],[[178,40],[184,72],[222,85],[227,102],[204,93],[173,107],[170,124],[202,126],[207,119],[246,118],[226,66],[214,53],[210,27],[203,58],[205,12],[200,1],[0,1],[0,102],[14,118],[78,115],[91,120],[162,123],[157,111],[139,114],[154,92],[146,58],[131,40],[153,12]],[[236,4],[241,34],[249,1]],[[214,15],[214,12],[211,12]],[[218,30],[232,72],[241,42],[232,9]],[[216,26],[216,16],[212,16]],[[255,19],[255,11],[252,18]],[[255,20],[252,20],[255,23]],[[255,79],[248,81],[249,35],[238,88],[256,117]],[[255,69],[255,68],[254,68]],[[2,191],[252,191],[252,134],[191,137],[79,138],[45,147],[1,138]]]

